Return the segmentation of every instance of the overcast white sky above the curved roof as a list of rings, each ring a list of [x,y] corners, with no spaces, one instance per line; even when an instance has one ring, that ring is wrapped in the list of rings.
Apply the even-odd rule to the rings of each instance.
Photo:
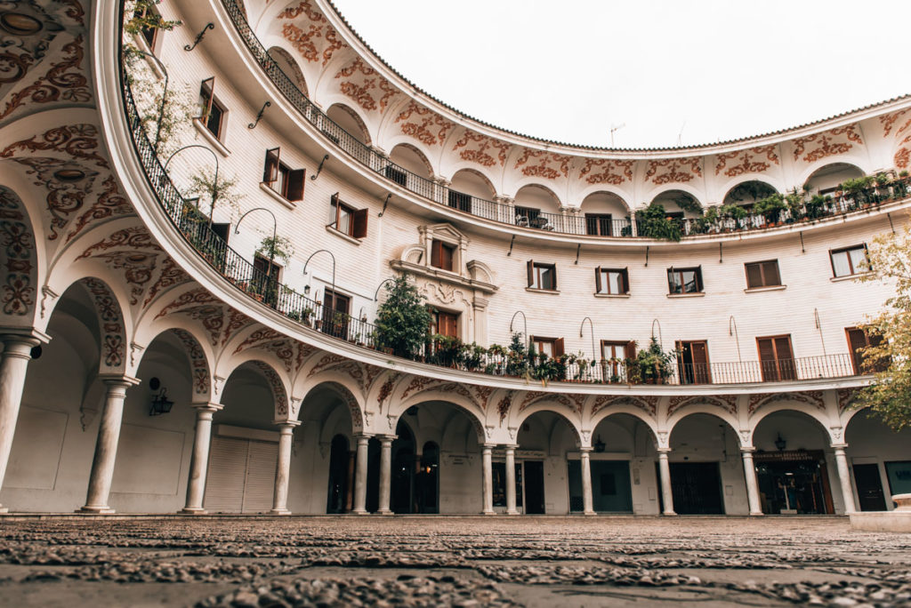
[[[911,93],[908,0],[333,0],[466,114],[616,147],[759,135]]]

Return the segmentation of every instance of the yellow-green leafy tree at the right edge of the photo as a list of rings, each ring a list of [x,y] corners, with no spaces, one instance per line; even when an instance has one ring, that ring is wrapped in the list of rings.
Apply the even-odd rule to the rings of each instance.
[[[869,407],[894,431],[911,427],[911,225],[902,234],[876,237],[869,247],[869,270],[859,280],[893,286],[896,295],[862,329],[882,337],[862,351],[874,382],[861,390],[856,407]]]

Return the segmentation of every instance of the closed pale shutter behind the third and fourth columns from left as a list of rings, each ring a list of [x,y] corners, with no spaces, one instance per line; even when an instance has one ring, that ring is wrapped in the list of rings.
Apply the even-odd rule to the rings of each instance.
[[[265,512],[272,506],[278,444],[212,437],[203,505],[209,512]]]

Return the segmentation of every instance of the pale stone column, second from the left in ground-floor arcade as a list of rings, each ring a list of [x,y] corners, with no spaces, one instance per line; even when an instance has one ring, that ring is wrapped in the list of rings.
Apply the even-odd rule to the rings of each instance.
[[[105,407],[101,412],[101,423],[98,425],[95,457],[92,459],[92,472],[88,477],[86,505],[79,510],[89,513],[114,512],[107,506],[107,499],[111,491],[111,480],[114,479],[120,422],[123,420],[123,401],[127,398],[127,389],[139,383],[139,380],[128,376],[108,375],[101,378],[107,386]]]

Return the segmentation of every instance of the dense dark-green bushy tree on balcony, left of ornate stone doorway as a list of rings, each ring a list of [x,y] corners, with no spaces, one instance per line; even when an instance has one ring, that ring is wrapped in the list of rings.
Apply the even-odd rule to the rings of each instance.
[[[433,320],[425,297],[403,273],[386,283],[386,299],[376,312],[376,346],[397,357],[415,359]]]

